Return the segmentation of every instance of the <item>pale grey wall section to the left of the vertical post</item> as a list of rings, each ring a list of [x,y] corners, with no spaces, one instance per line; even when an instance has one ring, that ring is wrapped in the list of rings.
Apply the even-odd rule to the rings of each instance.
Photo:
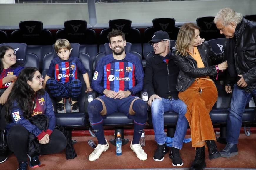
[[[66,20],[89,21],[87,3],[81,4],[0,4],[0,25],[17,26],[20,21],[42,21],[44,25],[63,25]]]

